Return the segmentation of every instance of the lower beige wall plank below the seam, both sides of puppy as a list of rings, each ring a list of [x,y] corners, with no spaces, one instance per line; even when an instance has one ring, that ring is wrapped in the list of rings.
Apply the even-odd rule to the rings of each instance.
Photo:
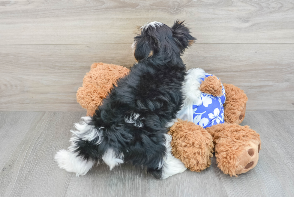
[[[79,111],[93,62],[130,67],[130,44],[0,46],[0,111]],[[294,110],[294,45],[196,44],[183,60],[248,96],[247,110]]]

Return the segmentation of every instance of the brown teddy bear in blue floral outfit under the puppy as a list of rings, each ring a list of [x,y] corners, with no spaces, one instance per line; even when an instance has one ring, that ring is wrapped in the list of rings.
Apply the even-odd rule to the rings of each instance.
[[[95,113],[103,99],[117,84],[117,80],[127,75],[129,71],[128,68],[114,64],[91,65],[90,71],[83,78],[82,87],[76,93],[77,102],[87,109],[87,116]],[[192,71],[199,70],[190,69],[187,72]],[[224,174],[237,176],[254,168],[258,162],[261,141],[256,131],[249,126],[239,125],[244,120],[246,111],[247,96],[244,91],[231,84],[222,84],[215,75],[202,75],[202,78],[197,79],[198,81],[195,81],[195,78],[191,80],[186,80],[185,85],[195,85],[199,82],[196,87],[197,91],[199,90],[199,98],[203,100],[204,97],[211,97],[211,100],[219,100],[222,102],[223,113],[220,118],[220,116],[215,117],[219,114],[218,111],[212,112],[211,120],[215,122],[210,121],[209,124],[207,121],[200,122],[199,116],[192,118],[181,116],[182,119],[178,119],[169,130],[172,136],[173,155],[190,171],[199,172],[208,168],[213,153],[218,168]],[[203,104],[202,100],[194,100],[194,103]],[[206,120],[204,117],[202,119]]]

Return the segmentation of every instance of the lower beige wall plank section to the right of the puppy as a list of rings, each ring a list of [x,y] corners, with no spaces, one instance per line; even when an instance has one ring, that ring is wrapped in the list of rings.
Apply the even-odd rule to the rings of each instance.
[[[244,90],[247,110],[294,110],[292,44],[199,44],[184,62]]]

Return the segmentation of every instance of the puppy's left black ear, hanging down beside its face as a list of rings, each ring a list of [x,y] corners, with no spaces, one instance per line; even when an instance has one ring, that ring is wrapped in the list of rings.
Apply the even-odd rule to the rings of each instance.
[[[141,35],[137,35],[134,38],[133,48],[134,56],[137,61],[146,59],[155,54],[158,50],[158,40],[155,36],[150,35],[144,29],[141,32]]]

